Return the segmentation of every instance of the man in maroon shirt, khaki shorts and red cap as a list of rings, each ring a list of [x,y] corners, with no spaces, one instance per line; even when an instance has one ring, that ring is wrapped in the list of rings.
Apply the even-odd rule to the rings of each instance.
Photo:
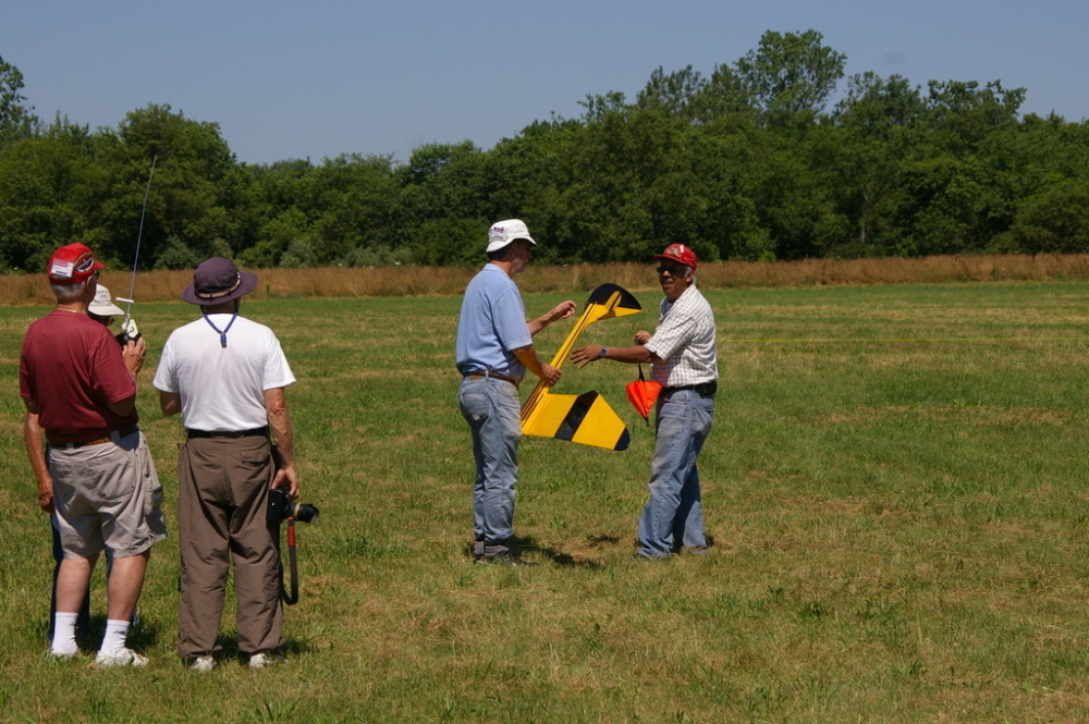
[[[78,653],[77,612],[99,554],[109,550],[108,621],[96,663],[143,666],[147,659],[125,639],[151,545],[167,529],[162,488],[137,427],[145,342],[129,342],[119,355],[109,330],[87,316],[102,268],[83,244],[62,246],[50,258],[57,308],[30,324],[23,340],[20,396],[38,505],[56,513],[64,551],[51,653]]]

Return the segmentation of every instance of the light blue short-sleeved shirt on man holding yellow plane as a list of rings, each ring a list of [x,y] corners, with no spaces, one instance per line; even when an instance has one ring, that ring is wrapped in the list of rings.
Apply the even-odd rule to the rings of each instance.
[[[485,265],[465,287],[454,348],[457,369],[521,380],[525,368],[511,351],[529,344],[533,336],[518,285],[499,266]]]

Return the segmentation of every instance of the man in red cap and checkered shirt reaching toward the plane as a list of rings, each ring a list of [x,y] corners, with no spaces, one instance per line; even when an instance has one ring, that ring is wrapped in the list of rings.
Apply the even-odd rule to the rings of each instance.
[[[631,347],[588,344],[571,354],[579,367],[597,359],[650,363],[651,379],[662,385],[650,500],[639,518],[639,555],[646,559],[707,548],[696,458],[711,430],[719,379],[714,314],[696,289],[696,253],[671,244],[654,258],[665,293],[654,333],[637,332]]]

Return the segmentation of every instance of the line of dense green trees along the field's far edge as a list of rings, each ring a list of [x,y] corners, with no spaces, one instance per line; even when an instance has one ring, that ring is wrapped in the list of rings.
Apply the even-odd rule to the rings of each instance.
[[[658,69],[634,100],[588,95],[490,150],[246,164],[166,105],[45,123],[0,58],[0,271],[76,241],[132,265],[152,158],[145,269],[475,265],[509,217],[550,263],[673,242],[707,260],[1089,251],[1089,123],[1023,115],[1000,81],[845,78],[845,60],[816,30],[769,30],[709,75]]]

